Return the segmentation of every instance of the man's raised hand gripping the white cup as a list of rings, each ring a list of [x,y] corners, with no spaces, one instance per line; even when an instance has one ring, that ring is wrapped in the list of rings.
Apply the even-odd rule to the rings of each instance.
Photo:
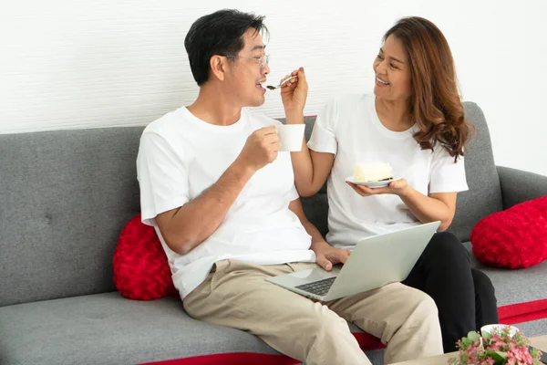
[[[279,151],[279,137],[274,126],[254,130],[247,138],[237,160],[253,170],[274,162]]]

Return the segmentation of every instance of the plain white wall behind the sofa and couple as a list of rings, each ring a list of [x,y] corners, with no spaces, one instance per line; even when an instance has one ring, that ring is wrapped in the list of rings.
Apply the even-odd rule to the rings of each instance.
[[[223,7],[266,16],[271,81],[304,66],[307,114],[371,91],[383,33],[400,16],[429,18],[449,39],[463,99],[486,114],[496,162],[547,175],[543,0],[2,0],[0,133],[145,125],[189,104],[184,36]],[[261,110],[283,115],[276,93]]]

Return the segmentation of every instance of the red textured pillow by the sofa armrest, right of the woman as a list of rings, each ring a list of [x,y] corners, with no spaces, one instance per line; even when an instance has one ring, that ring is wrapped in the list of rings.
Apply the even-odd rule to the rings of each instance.
[[[534,266],[547,259],[547,195],[490,214],[471,232],[473,254],[485,265]]]

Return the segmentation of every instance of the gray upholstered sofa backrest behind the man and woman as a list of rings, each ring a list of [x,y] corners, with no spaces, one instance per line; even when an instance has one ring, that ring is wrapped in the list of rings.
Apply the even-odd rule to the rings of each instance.
[[[465,104],[478,134],[466,158],[470,192],[451,226],[460,239],[501,210],[500,183],[480,109]],[[309,138],[314,117],[306,118]],[[142,128],[0,135],[0,306],[115,290],[112,255],[139,213],[135,160]],[[303,199],[325,234],[325,190]]]

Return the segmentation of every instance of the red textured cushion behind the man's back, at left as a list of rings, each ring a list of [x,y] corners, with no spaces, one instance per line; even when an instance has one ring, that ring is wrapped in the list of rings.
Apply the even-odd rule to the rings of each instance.
[[[177,292],[160,238],[140,214],[121,231],[113,262],[114,284],[124,297],[152,300]]]

